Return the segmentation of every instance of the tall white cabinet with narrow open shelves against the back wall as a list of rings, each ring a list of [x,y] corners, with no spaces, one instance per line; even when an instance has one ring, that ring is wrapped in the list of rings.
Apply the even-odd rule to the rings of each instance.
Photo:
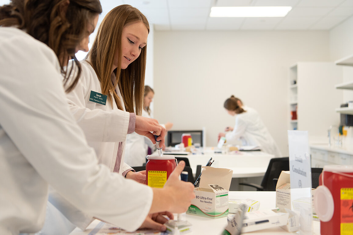
[[[288,129],[327,136],[329,126],[340,120],[334,110],[342,103],[342,92],[334,86],[342,82],[342,68],[333,62],[298,62],[290,67],[288,80]]]

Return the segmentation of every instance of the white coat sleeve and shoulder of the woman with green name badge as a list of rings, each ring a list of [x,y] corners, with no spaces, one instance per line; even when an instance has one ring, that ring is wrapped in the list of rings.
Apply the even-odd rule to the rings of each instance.
[[[76,68],[76,66],[74,66]],[[77,68],[76,68],[77,69]],[[82,63],[82,74],[76,87],[66,94],[70,111],[78,125],[83,129],[88,141],[123,142],[126,139],[130,113],[119,110],[89,109],[88,99],[91,90],[100,92],[98,78],[94,70]],[[95,105],[95,104],[91,104]],[[111,105],[107,99],[106,105]],[[97,106],[100,106],[97,104]]]

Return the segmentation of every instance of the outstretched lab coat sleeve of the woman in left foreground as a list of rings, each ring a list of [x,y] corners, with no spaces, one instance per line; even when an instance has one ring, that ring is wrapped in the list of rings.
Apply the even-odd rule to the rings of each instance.
[[[78,209],[136,230],[149,213],[153,192],[98,165],[68,109],[54,52],[17,37],[1,41],[0,48],[6,68],[0,77],[0,124],[28,161],[23,174],[37,172]]]

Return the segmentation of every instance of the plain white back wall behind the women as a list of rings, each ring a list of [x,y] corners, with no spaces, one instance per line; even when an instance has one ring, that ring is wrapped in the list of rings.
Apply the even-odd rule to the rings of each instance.
[[[288,73],[297,61],[329,61],[328,31],[156,31],[154,117],[175,130],[205,126],[215,146],[234,125],[223,108],[234,94],[288,155]]]

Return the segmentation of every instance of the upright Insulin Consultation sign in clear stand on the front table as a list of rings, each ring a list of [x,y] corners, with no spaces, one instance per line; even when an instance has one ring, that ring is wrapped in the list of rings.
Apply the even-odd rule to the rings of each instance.
[[[299,214],[300,234],[312,232],[311,162],[307,131],[288,131],[291,208]]]

